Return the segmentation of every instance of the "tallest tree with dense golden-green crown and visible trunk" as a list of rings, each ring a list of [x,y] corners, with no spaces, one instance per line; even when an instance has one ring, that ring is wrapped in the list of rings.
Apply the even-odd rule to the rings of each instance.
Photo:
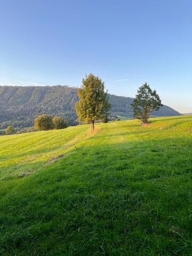
[[[89,74],[83,78],[82,86],[77,93],[79,97],[76,103],[78,119],[83,123],[91,123],[93,132],[94,122],[106,117],[110,109],[105,84],[98,76]]]

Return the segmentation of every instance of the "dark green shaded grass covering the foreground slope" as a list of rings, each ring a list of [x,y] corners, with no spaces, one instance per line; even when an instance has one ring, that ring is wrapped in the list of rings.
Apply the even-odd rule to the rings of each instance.
[[[10,190],[7,182],[2,252],[190,255],[191,145],[186,137],[82,145]]]

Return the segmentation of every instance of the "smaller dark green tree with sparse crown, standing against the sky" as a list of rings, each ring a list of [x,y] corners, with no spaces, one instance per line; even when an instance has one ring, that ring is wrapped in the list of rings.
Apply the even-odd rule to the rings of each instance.
[[[150,86],[145,83],[139,87],[133,100],[133,115],[135,118],[141,119],[143,123],[147,123],[151,112],[159,110],[162,106],[161,99],[156,90],[151,90]]]

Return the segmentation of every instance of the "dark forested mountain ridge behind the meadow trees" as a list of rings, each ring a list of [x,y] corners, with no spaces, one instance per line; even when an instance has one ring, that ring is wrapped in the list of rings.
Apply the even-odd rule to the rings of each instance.
[[[69,125],[78,124],[75,103],[77,88],[68,86],[0,86],[0,129],[13,125],[17,129],[34,125],[42,114],[62,116]],[[110,115],[133,117],[133,98],[109,94]],[[178,116],[174,109],[163,106],[153,116]]]

